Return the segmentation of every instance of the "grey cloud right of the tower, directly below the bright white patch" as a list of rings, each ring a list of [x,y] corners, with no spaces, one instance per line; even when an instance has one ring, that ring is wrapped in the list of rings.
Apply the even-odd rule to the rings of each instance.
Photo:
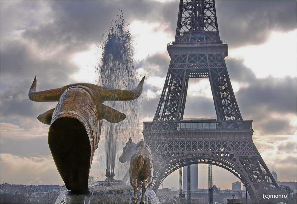
[[[226,65],[231,81],[246,84],[235,93],[241,112],[249,115],[265,106],[265,111],[296,113],[296,77],[256,78],[241,59],[226,59]]]

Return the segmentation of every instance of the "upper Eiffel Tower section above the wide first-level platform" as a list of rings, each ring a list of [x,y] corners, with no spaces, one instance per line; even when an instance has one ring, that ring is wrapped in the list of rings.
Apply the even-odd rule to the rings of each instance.
[[[181,1],[166,81],[153,121],[183,119],[189,78],[209,78],[219,120],[242,120],[224,58],[213,1]]]

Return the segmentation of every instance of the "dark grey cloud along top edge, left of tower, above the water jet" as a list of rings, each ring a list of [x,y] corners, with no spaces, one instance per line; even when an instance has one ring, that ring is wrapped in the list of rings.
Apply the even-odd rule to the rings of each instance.
[[[151,23],[161,21],[171,28],[168,32],[174,30],[177,17],[173,16],[178,13],[170,12],[176,7],[177,3],[174,2],[51,1],[49,4],[55,13],[54,22],[27,29],[23,36],[34,38],[40,45],[62,43],[71,45],[72,49],[86,49],[85,46],[92,43],[98,45],[112,20],[118,18],[121,11],[127,22],[135,19]]]

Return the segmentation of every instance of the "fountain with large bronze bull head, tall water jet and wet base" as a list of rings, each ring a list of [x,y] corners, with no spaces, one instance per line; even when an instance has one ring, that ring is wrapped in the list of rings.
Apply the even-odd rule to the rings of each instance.
[[[133,135],[130,131],[138,126],[135,124],[137,114],[134,112],[138,108],[137,102],[135,103],[137,100],[129,101],[141,95],[144,78],[131,91],[114,88],[120,86],[131,89],[129,86],[135,87],[136,81],[131,36],[124,30],[125,22],[122,16],[115,23],[116,26],[111,26],[104,44],[101,64],[97,67],[99,83],[102,86],[77,83],[37,92],[35,78],[29,91],[32,101],[58,101],[55,108],[37,117],[39,121],[50,125],[49,147],[68,189],[60,194],[56,203],[132,203],[133,188],[121,180],[114,179],[115,152],[119,135],[123,132]],[[110,103],[105,105],[104,102]],[[129,119],[134,121],[128,125],[121,122],[126,115],[116,109],[132,113],[132,120]],[[103,119],[108,123],[102,122]],[[121,123],[117,125],[119,122]],[[90,168],[95,149],[98,148],[102,127],[107,157],[106,179],[89,187]],[[141,193],[139,190],[138,194]],[[147,190],[144,201],[159,202],[152,190]]]

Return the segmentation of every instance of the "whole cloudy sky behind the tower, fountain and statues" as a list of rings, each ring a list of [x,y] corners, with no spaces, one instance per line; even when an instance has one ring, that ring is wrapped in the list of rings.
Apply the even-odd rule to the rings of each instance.
[[[121,12],[134,39],[135,69],[139,79],[146,76],[140,120],[152,121],[170,62],[166,46],[174,40],[178,1],[0,4],[1,183],[63,184],[48,147],[48,126],[37,120],[56,102],[30,101],[29,88],[35,76],[37,90],[96,83],[102,43]],[[253,120],[253,141],[279,181],[296,181],[296,1],[216,1],[216,11],[241,115]],[[216,116],[207,78],[189,81],[184,115]],[[91,175],[103,179],[100,148]],[[213,172],[221,189],[238,181],[222,168]],[[199,164],[198,174],[199,187],[207,187],[207,165]],[[163,181],[163,187],[172,186],[178,188],[178,172]]]

